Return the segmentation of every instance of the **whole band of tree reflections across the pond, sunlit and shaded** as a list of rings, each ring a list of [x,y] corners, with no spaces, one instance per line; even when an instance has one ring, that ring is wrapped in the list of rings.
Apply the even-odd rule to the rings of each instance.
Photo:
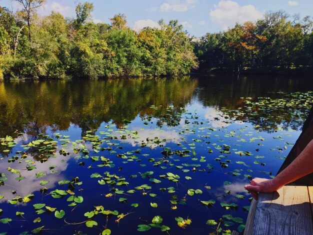
[[[105,121],[116,127],[124,126],[124,119],[133,120],[152,116],[157,125],[164,122],[177,123],[181,110],[192,97],[203,106],[213,106],[224,111],[237,110],[246,104],[241,97],[280,98],[277,91],[290,93],[306,90],[313,81],[273,77],[221,77],[206,76],[181,79],[107,79],[107,80],[61,80],[18,81],[0,83],[0,136],[12,134],[15,129],[28,133],[36,139],[38,133],[47,129],[66,130],[70,123],[82,129],[96,130]],[[155,108],[150,108],[155,105]],[[171,105],[172,110],[166,108]],[[256,109],[255,109],[256,110]],[[238,118],[260,126],[298,128],[302,119],[291,119],[294,109],[277,110],[268,115],[257,110],[256,115],[244,113]],[[171,116],[165,115],[172,114]]]

